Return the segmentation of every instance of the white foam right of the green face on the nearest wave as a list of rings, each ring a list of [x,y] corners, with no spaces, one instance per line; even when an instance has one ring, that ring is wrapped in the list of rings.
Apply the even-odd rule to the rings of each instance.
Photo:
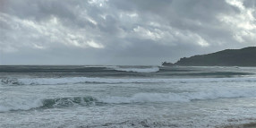
[[[256,90],[210,90],[183,93],[137,93],[132,97],[106,97],[99,101],[105,103],[145,103],[145,102],[190,102],[192,100],[218,98],[252,98]]]

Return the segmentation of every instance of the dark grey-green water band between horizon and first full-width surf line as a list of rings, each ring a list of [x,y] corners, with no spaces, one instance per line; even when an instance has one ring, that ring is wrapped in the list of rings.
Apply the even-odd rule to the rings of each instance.
[[[34,77],[50,77],[50,78],[64,78],[64,77],[137,77],[137,78],[188,78],[188,77],[234,77],[241,75],[253,75],[254,73],[245,73],[242,69],[232,68],[218,68],[218,71],[209,68],[195,68],[195,67],[162,67],[162,66],[56,66],[56,65],[19,65],[19,66],[0,66],[0,73],[6,75],[10,74],[24,74]],[[4,76],[3,75],[3,76]],[[7,76],[8,77],[8,76]],[[14,83],[20,84],[20,83]]]

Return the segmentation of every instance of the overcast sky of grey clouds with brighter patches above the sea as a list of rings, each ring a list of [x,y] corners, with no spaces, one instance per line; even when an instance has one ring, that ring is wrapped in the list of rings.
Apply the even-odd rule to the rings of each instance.
[[[134,65],[252,47],[255,0],[0,0],[0,64]]]

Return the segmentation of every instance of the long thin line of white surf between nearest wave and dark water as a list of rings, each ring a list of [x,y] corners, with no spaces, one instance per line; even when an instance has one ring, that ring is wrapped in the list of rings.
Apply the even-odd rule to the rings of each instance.
[[[115,79],[115,78],[90,78],[90,77],[66,77],[66,78],[27,78],[27,79],[2,79],[3,85],[58,85],[77,83],[197,83],[197,82],[256,82],[256,78],[192,78],[192,79]]]

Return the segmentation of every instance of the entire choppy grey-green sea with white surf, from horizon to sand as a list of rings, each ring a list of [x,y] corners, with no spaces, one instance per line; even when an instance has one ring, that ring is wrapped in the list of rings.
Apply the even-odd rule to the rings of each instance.
[[[1,128],[222,127],[256,121],[256,68],[0,66]]]

